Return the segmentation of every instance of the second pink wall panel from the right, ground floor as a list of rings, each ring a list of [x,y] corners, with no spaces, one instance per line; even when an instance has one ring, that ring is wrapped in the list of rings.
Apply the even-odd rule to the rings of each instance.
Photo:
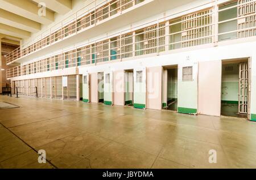
[[[162,66],[147,68],[147,109],[162,109]]]

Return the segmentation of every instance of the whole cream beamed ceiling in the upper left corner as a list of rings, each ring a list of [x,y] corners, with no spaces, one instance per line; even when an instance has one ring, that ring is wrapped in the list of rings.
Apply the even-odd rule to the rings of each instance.
[[[39,15],[44,3],[46,14]],[[20,40],[39,32],[42,25],[54,22],[55,14],[72,10],[72,0],[0,0],[0,39],[19,45]],[[41,11],[42,12],[42,11]]]

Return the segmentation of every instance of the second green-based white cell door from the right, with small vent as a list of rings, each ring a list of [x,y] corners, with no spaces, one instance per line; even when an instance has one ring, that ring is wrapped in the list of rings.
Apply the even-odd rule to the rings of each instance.
[[[146,67],[134,68],[134,108],[146,109]]]

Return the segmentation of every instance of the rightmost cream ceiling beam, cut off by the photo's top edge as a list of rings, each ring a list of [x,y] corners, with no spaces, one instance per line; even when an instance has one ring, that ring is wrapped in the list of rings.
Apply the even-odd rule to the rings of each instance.
[[[36,3],[43,2],[46,7],[59,14],[66,14],[72,9],[72,0],[32,0]]]

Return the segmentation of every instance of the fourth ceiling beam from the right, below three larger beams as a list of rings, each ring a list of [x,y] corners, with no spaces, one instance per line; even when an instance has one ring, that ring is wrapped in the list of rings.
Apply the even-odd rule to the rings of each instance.
[[[11,27],[10,25],[5,25],[0,23],[0,33],[19,37],[19,38],[28,38],[31,36],[31,33],[28,31],[24,31],[22,29]]]

